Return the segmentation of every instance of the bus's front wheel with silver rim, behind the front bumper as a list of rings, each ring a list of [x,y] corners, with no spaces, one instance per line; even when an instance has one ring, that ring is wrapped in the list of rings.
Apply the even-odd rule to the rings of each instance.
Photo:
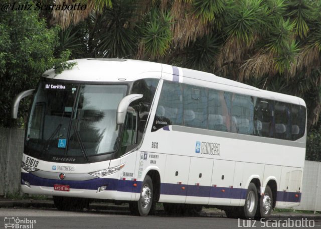
[[[129,210],[133,214],[146,216],[151,212],[153,204],[153,186],[150,176],[146,175],[140,189],[140,197],[137,202],[129,203]]]

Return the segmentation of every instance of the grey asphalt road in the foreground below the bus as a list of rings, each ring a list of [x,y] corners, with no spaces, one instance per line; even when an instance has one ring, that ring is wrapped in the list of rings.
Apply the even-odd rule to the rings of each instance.
[[[131,216],[128,211],[69,212],[56,209],[0,208],[0,228],[321,228],[316,219],[278,219],[270,222],[229,219],[226,217],[172,217],[167,215]],[[5,224],[7,223],[7,224]],[[13,223],[13,224],[10,224]],[[284,226],[283,223],[293,223]],[[296,223],[296,224],[295,224]],[[10,228],[10,227],[8,227]]]

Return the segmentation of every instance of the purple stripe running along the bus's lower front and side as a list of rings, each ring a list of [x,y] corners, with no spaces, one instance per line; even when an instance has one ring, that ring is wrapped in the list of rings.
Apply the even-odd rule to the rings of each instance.
[[[111,178],[94,178],[86,181],[54,180],[37,177],[31,173],[21,173],[21,178],[21,184],[24,184],[24,181],[28,181],[31,186],[54,187],[54,184],[62,184],[69,185],[70,188],[97,190],[99,187],[106,185],[106,191],[133,193],[140,193],[142,185],[141,181],[118,180]],[[136,187],[134,187],[134,183],[137,184]],[[245,199],[246,193],[246,188],[161,183],[161,194],[163,195]],[[282,202],[300,202],[301,193],[278,191],[276,200]]]

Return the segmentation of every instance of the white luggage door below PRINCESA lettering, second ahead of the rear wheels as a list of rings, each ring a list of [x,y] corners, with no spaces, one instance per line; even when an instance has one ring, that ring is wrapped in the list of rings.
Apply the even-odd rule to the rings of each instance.
[[[209,158],[191,158],[186,203],[209,203],[213,162]]]

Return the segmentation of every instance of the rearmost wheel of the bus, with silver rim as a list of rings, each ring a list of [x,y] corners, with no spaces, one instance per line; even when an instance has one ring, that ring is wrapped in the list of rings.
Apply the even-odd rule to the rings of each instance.
[[[259,207],[257,209],[257,218],[267,220],[273,210],[273,195],[271,188],[266,185],[264,195],[260,195]]]

